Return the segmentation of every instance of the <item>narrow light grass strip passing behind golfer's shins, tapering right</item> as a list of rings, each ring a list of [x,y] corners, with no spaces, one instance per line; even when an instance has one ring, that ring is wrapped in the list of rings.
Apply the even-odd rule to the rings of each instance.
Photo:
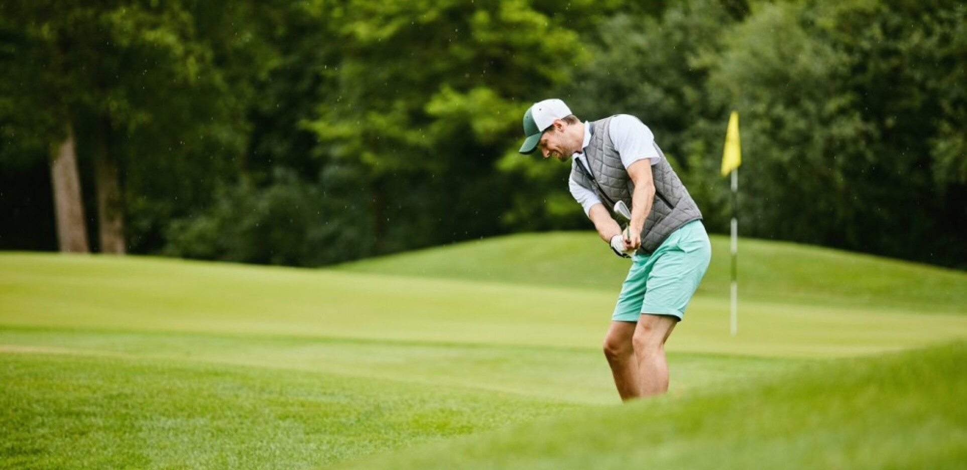
[[[344,338],[0,328],[0,354],[50,353],[324,372],[513,394],[562,403],[617,403],[601,351]],[[672,353],[671,393],[775,373],[799,361]]]

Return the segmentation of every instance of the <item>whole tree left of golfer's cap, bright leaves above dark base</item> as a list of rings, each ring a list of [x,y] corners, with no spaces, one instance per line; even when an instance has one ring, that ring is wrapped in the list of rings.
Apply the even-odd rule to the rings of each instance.
[[[339,54],[311,129],[330,162],[365,168],[355,196],[372,203],[376,251],[498,233],[512,191],[494,163],[581,58],[564,15],[506,0],[313,5]],[[593,12],[572,2],[568,16]]]

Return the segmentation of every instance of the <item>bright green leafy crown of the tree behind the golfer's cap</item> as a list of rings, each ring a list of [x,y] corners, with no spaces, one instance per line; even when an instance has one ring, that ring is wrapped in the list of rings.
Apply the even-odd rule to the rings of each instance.
[[[323,71],[326,93],[312,129],[334,157],[359,159],[376,175],[439,170],[464,157],[439,149],[443,142],[483,135],[481,144],[506,143],[516,131],[505,117],[519,107],[514,99],[562,80],[579,41],[526,2],[319,9],[341,57]],[[452,122],[439,123],[444,117]]]

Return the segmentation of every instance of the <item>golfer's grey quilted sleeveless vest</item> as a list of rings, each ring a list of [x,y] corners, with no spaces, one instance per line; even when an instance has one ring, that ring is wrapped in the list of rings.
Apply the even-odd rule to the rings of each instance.
[[[571,163],[571,179],[582,187],[595,191],[608,211],[613,211],[615,202],[619,200],[625,201],[631,207],[634,182],[611,142],[608,130],[610,122],[611,118],[605,118],[591,123],[591,143],[584,149],[584,156],[590,166],[587,170],[591,174],[587,174],[583,164],[574,159]],[[638,249],[639,253],[646,255],[658,250],[661,242],[682,225],[702,219],[698,206],[682,180],[675,174],[668,159],[664,158],[658,143],[655,144],[655,150],[662,157],[658,163],[652,165],[655,199],[652,201],[652,211],[641,230],[641,248]]]

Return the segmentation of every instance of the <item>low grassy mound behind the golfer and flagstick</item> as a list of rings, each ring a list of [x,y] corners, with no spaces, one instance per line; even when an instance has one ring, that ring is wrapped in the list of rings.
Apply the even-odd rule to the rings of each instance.
[[[728,237],[712,236],[699,295],[727,297]],[[781,303],[967,313],[967,274],[870,255],[742,239],[743,298]],[[615,290],[628,261],[593,232],[533,233],[414,250],[347,263],[360,272]]]

